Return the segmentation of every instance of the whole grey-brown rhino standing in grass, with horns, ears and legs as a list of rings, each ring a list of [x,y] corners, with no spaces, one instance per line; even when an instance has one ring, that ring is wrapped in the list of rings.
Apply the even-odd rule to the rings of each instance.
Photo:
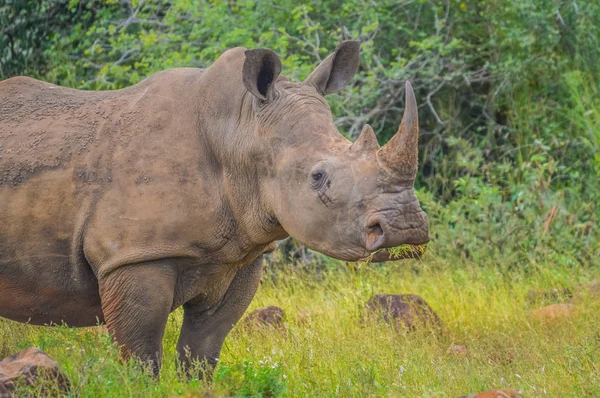
[[[157,374],[180,306],[183,366],[216,362],[277,240],[349,261],[427,242],[410,84],[383,148],[370,127],[351,143],[332,121],[323,96],[358,63],[348,41],[302,83],[243,48],[117,91],[0,82],[0,316],[104,322]]]

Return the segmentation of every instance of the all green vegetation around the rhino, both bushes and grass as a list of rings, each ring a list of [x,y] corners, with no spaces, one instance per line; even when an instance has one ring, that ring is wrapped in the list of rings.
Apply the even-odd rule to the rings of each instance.
[[[212,387],[177,379],[178,313],[159,383],[119,366],[103,332],[0,320],[0,354],[41,346],[76,396],[433,397],[507,385],[600,396],[598,304],[582,299],[559,326],[526,316],[540,304],[528,290],[577,290],[600,275],[600,2],[3,0],[0,79],[118,89],[245,46],[273,49],[300,80],[348,38],[362,43],[360,70],[328,97],[343,134],[370,123],[383,144],[400,122],[404,81],[415,88],[417,195],[432,234],[423,260],[345,264],[286,242],[253,308],[284,307],[287,332],[236,328]],[[420,294],[449,332],[361,325],[364,302],[384,292]],[[451,342],[471,357],[445,354]]]

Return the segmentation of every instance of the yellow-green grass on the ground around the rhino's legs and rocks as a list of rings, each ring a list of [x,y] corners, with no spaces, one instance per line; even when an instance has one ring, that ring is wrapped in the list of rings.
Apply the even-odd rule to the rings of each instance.
[[[573,318],[553,324],[527,316],[536,307],[527,300],[530,289],[576,289],[600,278],[598,267],[528,269],[450,264],[429,255],[384,266],[270,273],[250,310],[282,307],[285,331],[238,325],[210,387],[177,375],[180,312],[170,318],[156,382],[136,364],[121,364],[99,328],[0,320],[0,352],[43,349],[62,364],[72,395],[83,397],[202,396],[209,388],[216,395],[452,397],[509,387],[526,397],[600,396],[600,302],[584,297]],[[422,296],[447,331],[399,333],[382,322],[361,322],[364,303],[376,293]],[[464,344],[471,355],[447,354],[451,344]]]

